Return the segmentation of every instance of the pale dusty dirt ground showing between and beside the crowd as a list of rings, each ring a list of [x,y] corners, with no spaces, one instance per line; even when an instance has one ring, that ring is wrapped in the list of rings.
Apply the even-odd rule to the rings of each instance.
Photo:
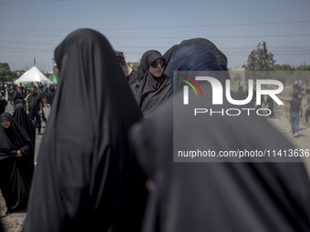
[[[291,87],[285,87],[283,93],[281,94],[282,97],[288,98],[289,97],[289,92],[291,91]],[[305,98],[305,97],[304,97]],[[303,101],[303,106],[305,105],[305,99]],[[281,131],[284,136],[286,136],[296,148],[299,149],[310,149],[310,122],[309,124],[305,124],[305,117],[302,118],[301,124],[300,124],[300,130],[299,130],[299,136],[297,138],[292,136],[292,130],[291,130],[291,125],[288,120],[288,114],[287,112],[287,107],[285,108],[284,106],[274,106],[277,107],[275,110],[275,117],[274,118],[269,118],[268,121],[274,125],[279,131]],[[6,111],[13,112],[12,106],[7,106]],[[46,116],[48,118],[48,112],[49,109],[46,107],[44,108],[44,111],[46,113]],[[42,132],[44,133],[45,129],[45,123],[42,122]],[[42,136],[36,136],[36,156],[35,160],[37,158],[37,153],[38,149],[40,146]],[[310,177],[310,157],[308,157],[305,160],[305,167],[308,171],[309,177]],[[5,201],[0,193],[0,217],[2,220],[2,223],[5,227],[5,232],[19,232],[22,230],[23,224],[24,224],[24,219],[26,217],[26,212],[17,212],[14,214],[11,214],[9,216],[5,217]]]

